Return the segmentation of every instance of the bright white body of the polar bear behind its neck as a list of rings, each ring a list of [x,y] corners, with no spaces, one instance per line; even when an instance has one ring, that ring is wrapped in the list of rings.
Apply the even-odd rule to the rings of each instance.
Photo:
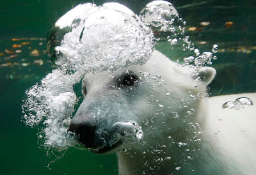
[[[234,162],[234,169],[241,174],[256,173],[256,107],[221,109],[221,104],[247,97],[255,102],[256,93],[215,96],[205,103],[204,132],[211,138],[211,145],[227,160]],[[227,164],[227,162],[225,162]],[[236,172],[236,174],[239,174]]]

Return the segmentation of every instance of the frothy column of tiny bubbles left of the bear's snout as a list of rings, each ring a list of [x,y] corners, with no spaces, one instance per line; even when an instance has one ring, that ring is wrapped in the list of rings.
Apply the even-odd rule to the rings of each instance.
[[[27,98],[22,105],[24,120],[29,126],[44,125],[38,139],[43,139],[45,148],[62,150],[77,144],[74,137],[67,135],[67,128],[77,103],[73,85],[81,77],[80,72],[65,73],[58,68],[49,73],[41,84],[35,84],[26,91]]]

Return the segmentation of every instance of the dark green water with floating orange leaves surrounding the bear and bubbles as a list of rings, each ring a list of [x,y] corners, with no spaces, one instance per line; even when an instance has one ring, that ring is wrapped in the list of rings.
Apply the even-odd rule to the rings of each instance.
[[[150,1],[116,2],[138,14]],[[218,74],[210,84],[211,96],[255,92],[255,1],[170,2],[186,21],[186,36],[201,53],[212,51],[212,46],[218,45],[218,59],[212,61]],[[26,126],[22,119],[21,105],[26,89],[56,68],[46,52],[47,30],[79,3],[19,1],[1,4],[4,26],[0,36],[1,174],[117,174],[115,155],[96,155],[75,148],[64,152],[50,149],[47,153],[42,147],[44,143],[38,141],[37,128]],[[94,3],[101,5],[106,1]],[[158,36],[163,37],[161,33]],[[179,45],[170,49],[167,39],[156,43],[155,47],[174,61],[190,56]]]

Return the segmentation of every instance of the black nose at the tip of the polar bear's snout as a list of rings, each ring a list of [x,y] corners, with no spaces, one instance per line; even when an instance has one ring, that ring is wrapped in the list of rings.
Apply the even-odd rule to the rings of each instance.
[[[79,136],[79,142],[84,144],[86,148],[97,148],[95,145],[96,126],[90,124],[74,124],[71,123],[68,132],[74,132]]]

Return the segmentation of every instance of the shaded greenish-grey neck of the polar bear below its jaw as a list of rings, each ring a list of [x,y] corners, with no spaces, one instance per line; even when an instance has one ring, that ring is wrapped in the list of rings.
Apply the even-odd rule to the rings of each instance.
[[[158,139],[143,146],[118,152],[119,174],[229,174],[232,165],[215,151],[207,136],[198,136],[195,128],[179,130],[172,139]],[[217,163],[218,162],[218,163]],[[221,164],[223,162],[223,164]],[[222,166],[222,165],[225,165]],[[226,173],[227,172],[227,173]]]

